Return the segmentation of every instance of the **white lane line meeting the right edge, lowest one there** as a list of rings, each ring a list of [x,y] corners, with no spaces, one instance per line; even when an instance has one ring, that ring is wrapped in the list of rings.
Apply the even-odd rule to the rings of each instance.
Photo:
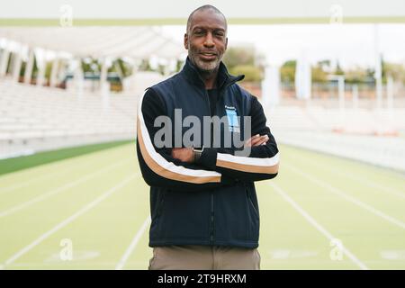
[[[373,213],[375,216],[379,216],[381,218],[383,218],[384,220],[387,220],[389,222],[391,222],[392,224],[401,227],[402,229],[405,229],[405,223],[402,222],[401,220],[398,220],[396,218],[393,218],[392,216],[385,214],[383,211],[380,211],[376,208],[374,208],[373,206],[366,204],[365,202],[361,202],[360,200],[358,200],[357,198],[347,195],[347,193],[345,193],[343,190],[338,189],[335,186],[332,186],[331,184],[328,184],[324,181],[321,181],[307,173],[302,172],[301,170],[295,168],[294,166],[288,165],[288,164],[284,164],[284,167],[287,167],[291,170],[293,170],[293,172],[295,172],[296,174],[302,175],[302,177],[307,178],[308,180],[310,180],[312,183],[319,185],[320,187],[323,187],[326,189],[326,191],[329,191],[331,193],[335,193],[338,196],[342,197],[343,199],[347,200],[348,202],[352,202],[354,204],[356,204],[357,206],[365,209],[366,211],[369,211],[371,213]]]

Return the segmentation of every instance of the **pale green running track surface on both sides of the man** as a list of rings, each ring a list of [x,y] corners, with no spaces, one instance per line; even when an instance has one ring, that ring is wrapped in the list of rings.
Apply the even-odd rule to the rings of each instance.
[[[405,268],[404,175],[280,149],[279,175],[257,182],[262,269]],[[1,175],[0,199],[5,269],[114,269],[126,252],[124,269],[148,267],[148,186],[133,143]],[[332,238],[349,252],[341,259]],[[59,257],[64,239],[71,261]]]

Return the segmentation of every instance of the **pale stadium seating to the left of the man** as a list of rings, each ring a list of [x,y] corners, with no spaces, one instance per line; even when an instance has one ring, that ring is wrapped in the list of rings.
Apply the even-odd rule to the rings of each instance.
[[[134,139],[137,94],[99,94],[0,81],[0,158],[42,150]]]

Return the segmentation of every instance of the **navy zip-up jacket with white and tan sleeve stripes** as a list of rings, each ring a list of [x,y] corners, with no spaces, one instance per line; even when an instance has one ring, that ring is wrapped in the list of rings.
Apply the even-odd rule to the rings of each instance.
[[[258,246],[259,210],[254,181],[275,177],[279,156],[261,104],[236,84],[243,77],[230,76],[221,62],[218,90],[207,91],[187,58],[181,72],[148,88],[141,97],[137,152],[141,173],[150,186],[150,247]],[[215,99],[210,99],[209,94],[215,94]],[[175,109],[181,110],[176,113]],[[212,145],[217,135],[212,132],[214,125],[204,124],[204,116],[214,116],[211,111],[227,120],[217,132],[236,134],[241,140],[266,134],[269,140],[266,145],[251,148],[245,156],[238,154],[241,148],[233,141],[225,145],[220,139]],[[166,126],[172,136],[161,137],[170,143],[169,147],[157,146],[155,142],[163,127],[162,123],[156,127],[155,120],[161,115],[168,116],[172,124]],[[194,147],[204,147],[202,157],[192,164],[171,157],[171,147],[184,147],[178,141],[193,126],[186,121],[187,116],[201,121],[200,142],[195,136],[192,139]],[[246,139],[244,116],[251,117],[251,133]],[[182,123],[180,128],[174,125],[176,120]]]

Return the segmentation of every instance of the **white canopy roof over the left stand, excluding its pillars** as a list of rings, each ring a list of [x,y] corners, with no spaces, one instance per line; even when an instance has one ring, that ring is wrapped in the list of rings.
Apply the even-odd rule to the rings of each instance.
[[[77,57],[173,58],[184,52],[181,43],[150,26],[1,27],[0,38],[31,48],[65,51]]]

